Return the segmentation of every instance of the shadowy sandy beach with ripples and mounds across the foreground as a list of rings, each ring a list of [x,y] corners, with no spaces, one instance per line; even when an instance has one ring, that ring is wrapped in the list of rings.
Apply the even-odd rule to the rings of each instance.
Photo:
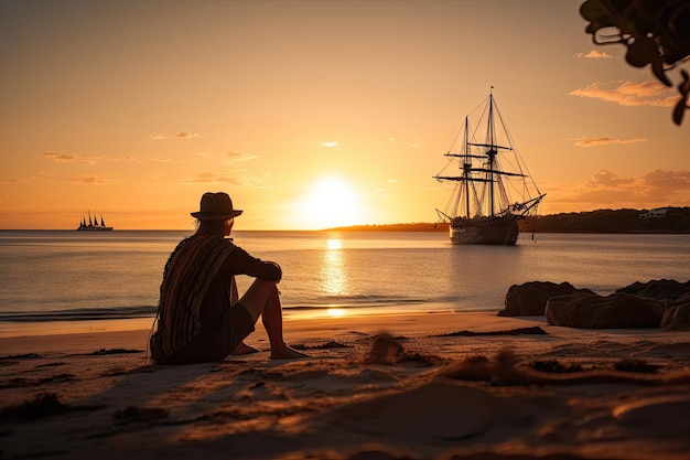
[[[688,459],[690,336],[496,312],[285,321],[311,355],[154,366],[148,329],[0,339],[0,457]]]

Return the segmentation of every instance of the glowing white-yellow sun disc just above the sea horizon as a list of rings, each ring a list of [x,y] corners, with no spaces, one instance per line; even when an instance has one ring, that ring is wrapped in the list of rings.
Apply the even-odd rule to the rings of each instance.
[[[359,223],[363,207],[357,191],[344,180],[330,176],[314,182],[298,205],[303,227],[323,229]]]

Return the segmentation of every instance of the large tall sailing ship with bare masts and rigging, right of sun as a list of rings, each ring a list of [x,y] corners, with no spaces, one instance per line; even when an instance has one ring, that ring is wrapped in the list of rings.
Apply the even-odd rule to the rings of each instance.
[[[449,223],[453,244],[515,245],[518,221],[536,214],[546,193],[529,176],[493,92],[481,107],[476,128],[466,116],[462,143],[456,146],[459,133],[444,154],[448,163],[434,176],[454,183],[449,203],[436,213]],[[484,139],[477,140],[482,133]]]

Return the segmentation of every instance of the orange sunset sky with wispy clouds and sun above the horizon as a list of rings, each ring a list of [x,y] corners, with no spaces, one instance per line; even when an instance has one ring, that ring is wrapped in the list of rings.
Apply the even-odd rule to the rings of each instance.
[[[492,85],[540,213],[690,205],[675,89],[582,1],[3,0],[0,228],[186,229],[206,191],[237,229],[434,222]]]

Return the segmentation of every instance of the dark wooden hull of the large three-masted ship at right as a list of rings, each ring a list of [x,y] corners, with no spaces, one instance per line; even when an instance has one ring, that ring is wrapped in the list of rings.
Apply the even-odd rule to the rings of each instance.
[[[449,226],[454,245],[504,245],[517,243],[518,224],[514,215],[500,217],[456,217]]]

